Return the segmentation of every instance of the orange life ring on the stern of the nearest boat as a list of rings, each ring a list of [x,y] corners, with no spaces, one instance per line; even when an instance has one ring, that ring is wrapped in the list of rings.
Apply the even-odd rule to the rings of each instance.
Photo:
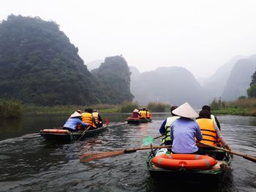
[[[206,170],[217,164],[210,156],[196,154],[162,154],[155,156],[152,162],[159,167],[186,170]]]

